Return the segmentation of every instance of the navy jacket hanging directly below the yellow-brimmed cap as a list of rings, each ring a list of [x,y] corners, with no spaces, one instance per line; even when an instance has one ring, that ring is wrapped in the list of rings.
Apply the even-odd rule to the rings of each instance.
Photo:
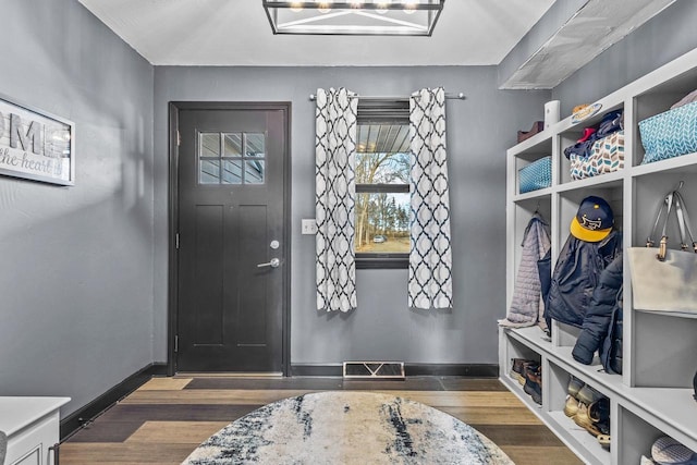
[[[580,328],[600,273],[622,253],[622,234],[612,231],[600,242],[568,235],[552,272],[545,318]]]

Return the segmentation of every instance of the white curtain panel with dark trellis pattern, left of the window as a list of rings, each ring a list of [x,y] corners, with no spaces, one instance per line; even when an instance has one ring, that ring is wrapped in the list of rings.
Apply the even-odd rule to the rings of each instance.
[[[356,308],[354,176],[358,99],[345,88],[317,89],[317,309]]]

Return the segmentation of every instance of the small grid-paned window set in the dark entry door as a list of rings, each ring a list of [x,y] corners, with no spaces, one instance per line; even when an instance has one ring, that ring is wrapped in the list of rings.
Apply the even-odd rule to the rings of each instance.
[[[266,134],[199,133],[199,184],[264,184]]]

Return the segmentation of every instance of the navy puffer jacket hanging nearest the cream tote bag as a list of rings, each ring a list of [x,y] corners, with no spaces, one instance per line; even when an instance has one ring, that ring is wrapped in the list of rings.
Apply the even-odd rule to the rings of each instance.
[[[590,365],[599,351],[608,372],[622,372],[622,254],[600,274],[583,329],[572,351],[574,359]]]

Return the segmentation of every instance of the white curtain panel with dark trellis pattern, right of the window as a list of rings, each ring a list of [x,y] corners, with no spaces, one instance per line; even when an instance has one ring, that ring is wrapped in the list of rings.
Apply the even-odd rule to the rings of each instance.
[[[411,98],[412,218],[408,306],[452,308],[450,200],[445,162],[445,90]]]

